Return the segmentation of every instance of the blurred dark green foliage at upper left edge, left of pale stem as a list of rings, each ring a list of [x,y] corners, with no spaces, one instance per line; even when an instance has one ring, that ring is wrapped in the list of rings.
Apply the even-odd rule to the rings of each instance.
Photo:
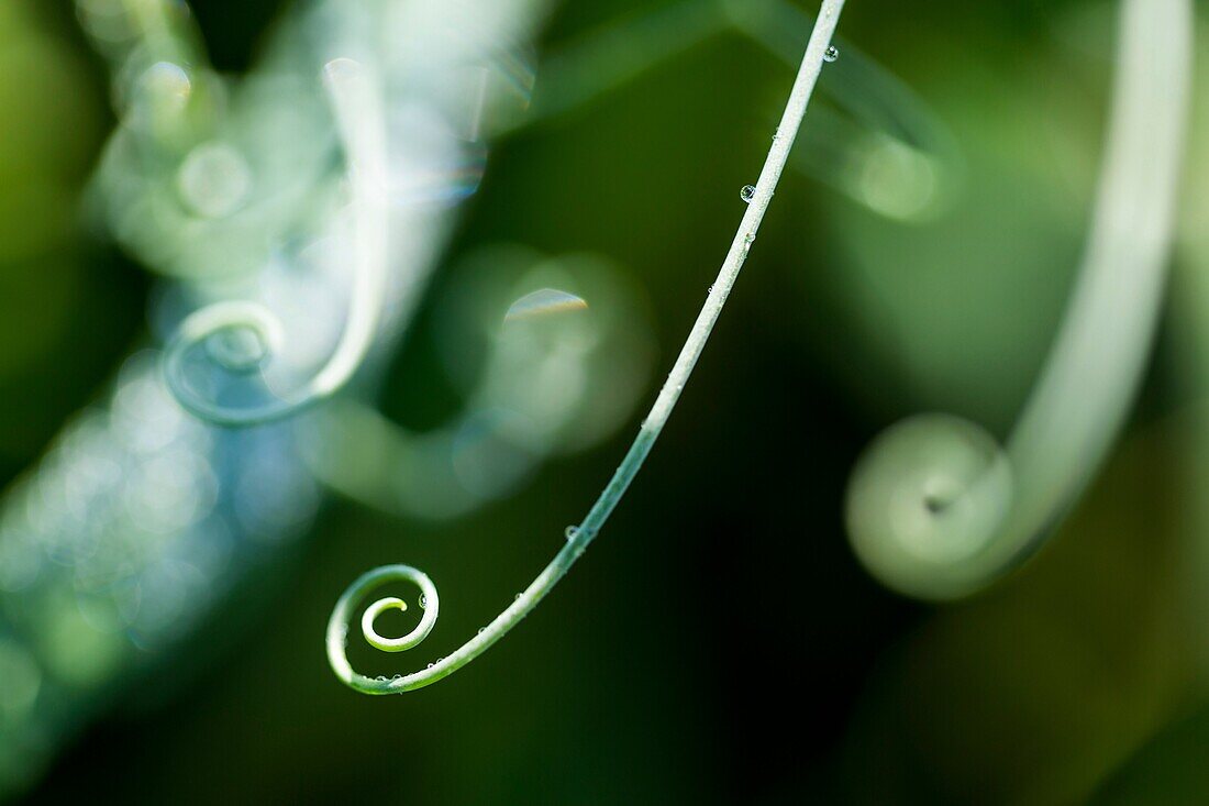
[[[41,453],[143,327],[143,277],[98,246],[81,212],[109,122],[105,84],[66,4],[0,7],[4,479]]]

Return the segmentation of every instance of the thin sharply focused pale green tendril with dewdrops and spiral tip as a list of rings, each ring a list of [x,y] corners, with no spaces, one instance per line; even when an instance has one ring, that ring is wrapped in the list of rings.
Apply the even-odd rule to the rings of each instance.
[[[557,585],[559,580],[579,559],[588,548],[588,545],[600,532],[604,522],[608,520],[609,514],[612,514],[614,507],[621,500],[621,496],[625,495],[626,488],[630,487],[630,482],[638,473],[652,447],[654,447],[655,439],[659,438],[659,433],[671,416],[672,409],[676,407],[676,402],[684,390],[684,384],[693,373],[693,367],[705,350],[710,332],[722,313],[727,297],[730,294],[730,289],[739,277],[739,271],[747,259],[747,252],[751,249],[751,244],[759,231],[760,221],[764,220],[764,213],[773,201],[776,184],[781,178],[786,161],[789,157],[789,150],[797,138],[802,120],[806,114],[810,96],[814,92],[818,74],[823,67],[825,52],[831,45],[832,35],[835,31],[835,25],[839,23],[843,7],[844,0],[823,0],[822,10],[818,13],[814,33],[811,33],[806,46],[806,53],[802,61],[802,68],[789,93],[789,100],[781,119],[781,126],[773,138],[773,148],[769,150],[764,169],[756,183],[756,192],[730,244],[730,252],[722,264],[718,278],[715,281],[706,298],[705,306],[698,315],[696,323],[693,326],[688,340],[684,342],[679,357],[676,359],[676,364],[667,376],[667,382],[664,384],[659,397],[655,399],[650,413],[638,431],[637,438],[630,447],[630,451],[625,455],[621,465],[617,468],[613,478],[588,512],[583,523],[579,526],[567,530],[567,545],[562,547],[554,560],[533,580],[528,588],[507,610],[496,616],[476,637],[463,644],[449,657],[430,664],[427,669],[391,679],[368,678],[355,672],[348,663],[348,623],[358,600],[382,583],[394,580],[411,581],[420,585],[424,591],[428,609],[434,614],[433,621],[435,621],[438,608],[436,588],[421,571],[406,565],[384,566],[361,576],[345,591],[343,595],[336,603],[335,610],[332,610],[331,618],[328,621],[328,661],[331,663],[336,677],[349,687],[374,695],[401,693],[421,689],[449,677],[485,652],[487,647],[508,634],[521,618],[527,616],[554,586]],[[371,608],[375,606],[378,605],[371,605]],[[427,632],[423,635],[427,635]],[[422,639],[423,635],[420,635],[420,638]],[[372,635],[366,635],[366,639],[371,638]]]

